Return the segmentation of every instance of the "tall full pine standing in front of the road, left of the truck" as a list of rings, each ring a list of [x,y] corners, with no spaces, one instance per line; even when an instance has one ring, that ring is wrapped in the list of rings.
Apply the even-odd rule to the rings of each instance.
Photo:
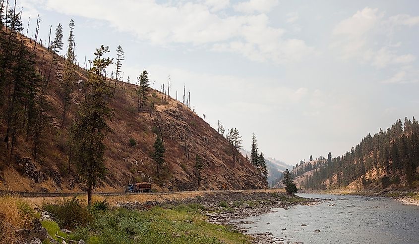
[[[88,188],[87,204],[92,204],[92,191],[98,181],[105,177],[104,163],[105,135],[111,132],[107,121],[113,115],[112,109],[105,100],[110,95],[103,71],[112,63],[112,59],[104,55],[109,47],[103,45],[96,49],[92,68],[86,86],[90,93],[81,104],[76,121],[70,129],[70,140],[74,152],[77,172]]]

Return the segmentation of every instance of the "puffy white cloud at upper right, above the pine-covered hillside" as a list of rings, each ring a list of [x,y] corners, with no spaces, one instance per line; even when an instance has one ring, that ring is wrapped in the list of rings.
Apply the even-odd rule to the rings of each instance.
[[[402,43],[397,42],[398,36],[394,35],[400,30],[394,26],[412,27],[416,24],[419,24],[419,16],[399,14],[386,17],[377,8],[365,7],[335,26],[331,47],[344,60],[355,59],[376,69],[410,65],[416,61],[416,56],[401,53]],[[411,71],[398,70],[382,83],[410,83],[412,79],[408,72]]]

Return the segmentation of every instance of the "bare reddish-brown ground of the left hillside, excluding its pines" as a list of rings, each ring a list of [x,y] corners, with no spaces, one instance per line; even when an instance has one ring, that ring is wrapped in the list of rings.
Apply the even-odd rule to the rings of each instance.
[[[18,36],[28,50],[34,49],[35,70],[43,81],[50,75],[53,54],[48,49]],[[16,42],[17,43],[17,42]],[[4,49],[0,49],[4,59]],[[93,50],[92,50],[93,52]],[[84,82],[88,72],[77,67],[77,77],[71,87],[70,105],[62,123],[62,57],[52,65],[51,77],[45,91],[47,105],[45,113],[49,123],[42,127],[42,147],[34,158],[32,134],[26,135],[23,126],[17,134],[13,151],[1,140],[0,143],[0,190],[31,192],[71,192],[83,191],[84,185],[75,173],[67,144],[68,130],[77,115],[78,106],[84,100],[88,88]],[[142,70],[138,70],[140,73]],[[12,72],[12,71],[10,71]],[[77,82],[78,81],[78,82]],[[114,86],[114,81],[109,81]],[[7,84],[5,85],[7,86]],[[8,85],[10,88],[11,85]],[[10,97],[3,90],[4,98]],[[129,183],[151,181],[152,189],[157,191],[219,190],[223,189],[261,189],[267,183],[243,156],[233,160],[228,141],[210,127],[187,106],[173,98],[163,98],[163,94],[153,90],[148,95],[149,102],[143,112],[137,111],[135,85],[118,85],[109,103],[114,116],[109,125],[112,132],[106,138],[106,179],[99,183],[96,191],[121,192]],[[154,104],[154,109],[150,109]],[[6,134],[7,103],[1,106],[0,135]],[[22,106],[23,107],[23,106]],[[150,112],[151,111],[151,112]],[[25,106],[26,113],[26,106]],[[23,114],[23,113],[22,113]],[[25,125],[26,114],[20,118]],[[239,121],[238,121],[239,123]],[[151,154],[153,143],[161,134],[166,147],[166,162],[163,173],[156,177],[156,165]],[[130,140],[136,145],[130,145]],[[201,156],[203,170],[201,186],[195,177],[195,157]]]

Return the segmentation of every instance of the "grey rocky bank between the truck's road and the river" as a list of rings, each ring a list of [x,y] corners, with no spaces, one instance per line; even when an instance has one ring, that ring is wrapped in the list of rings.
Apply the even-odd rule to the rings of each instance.
[[[274,244],[287,242],[288,239],[276,238],[272,233],[248,234],[248,228],[239,227],[232,220],[255,216],[272,211],[273,208],[289,208],[297,204],[313,205],[319,199],[307,199],[283,192],[211,192],[203,195],[166,201],[119,202],[118,206],[128,209],[148,209],[152,206],[173,206],[180,204],[201,204],[205,207],[201,214],[207,216],[207,222],[231,226],[233,231],[252,237],[252,244]],[[240,224],[240,223],[239,223]],[[291,239],[290,239],[291,240]]]

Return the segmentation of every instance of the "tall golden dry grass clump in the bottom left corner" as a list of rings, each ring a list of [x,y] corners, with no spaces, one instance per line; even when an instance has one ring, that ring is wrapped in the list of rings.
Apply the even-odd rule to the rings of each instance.
[[[0,197],[0,244],[16,243],[15,230],[28,228],[36,213],[24,199],[12,195]]]

